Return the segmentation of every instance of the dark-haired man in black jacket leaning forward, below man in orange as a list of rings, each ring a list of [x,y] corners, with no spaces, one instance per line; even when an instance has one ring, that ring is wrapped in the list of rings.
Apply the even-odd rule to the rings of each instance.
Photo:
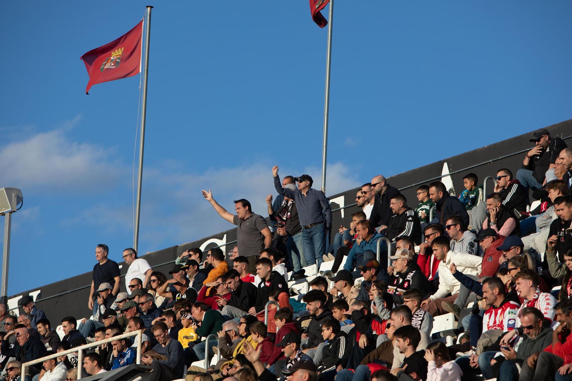
[[[248,310],[256,303],[257,289],[254,284],[240,280],[240,274],[235,269],[227,271],[223,282],[231,290],[231,299],[227,301],[223,297],[217,300],[223,315],[231,318],[242,318],[248,315]]]

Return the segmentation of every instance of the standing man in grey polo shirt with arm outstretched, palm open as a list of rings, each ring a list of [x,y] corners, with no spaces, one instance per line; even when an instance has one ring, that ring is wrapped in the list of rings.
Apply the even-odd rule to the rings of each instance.
[[[221,207],[213,199],[210,190],[202,191],[202,196],[215,208],[219,216],[229,223],[237,225],[237,241],[239,253],[248,258],[248,271],[256,272],[256,260],[260,256],[260,251],[270,247],[272,244],[272,232],[263,216],[252,213],[251,204],[248,200],[240,199],[235,201],[236,215],[231,215],[227,209]]]

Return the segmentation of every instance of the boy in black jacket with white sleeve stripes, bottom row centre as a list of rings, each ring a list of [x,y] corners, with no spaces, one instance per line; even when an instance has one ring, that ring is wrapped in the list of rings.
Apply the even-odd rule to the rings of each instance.
[[[348,338],[345,332],[340,331],[340,324],[336,319],[328,319],[322,323],[321,335],[325,345],[318,372],[323,381],[333,381],[337,371],[347,366],[350,351]]]

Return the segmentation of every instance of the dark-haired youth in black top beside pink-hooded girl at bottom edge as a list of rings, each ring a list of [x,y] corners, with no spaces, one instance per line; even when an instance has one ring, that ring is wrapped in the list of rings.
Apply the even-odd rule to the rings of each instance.
[[[414,326],[403,326],[395,330],[395,346],[405,359],[398,368],[392,368],[391,374],[399,380],[424,380],[427,378],[428,363],[425,351],[416,351],[421,334]],[[407,367],[406,367],[407,365]],[[404,374],[403,374],[404,373]]]

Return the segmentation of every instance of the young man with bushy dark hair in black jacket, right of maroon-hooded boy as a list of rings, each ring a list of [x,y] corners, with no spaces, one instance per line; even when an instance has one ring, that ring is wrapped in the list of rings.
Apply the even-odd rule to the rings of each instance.
[[[302,351],[310,356],[314,363],[320,363],[322,351],[319,345],[324,342],[321,335],[321,325],[328,319],[333,319],[332,311],[325,307],[325,293],[319,289],[308,291],[302,300],[306,303],[306,309],[312,315],[308,324],[308,343],[303,344]],[[338,323],[339,324],[339,323]]]

